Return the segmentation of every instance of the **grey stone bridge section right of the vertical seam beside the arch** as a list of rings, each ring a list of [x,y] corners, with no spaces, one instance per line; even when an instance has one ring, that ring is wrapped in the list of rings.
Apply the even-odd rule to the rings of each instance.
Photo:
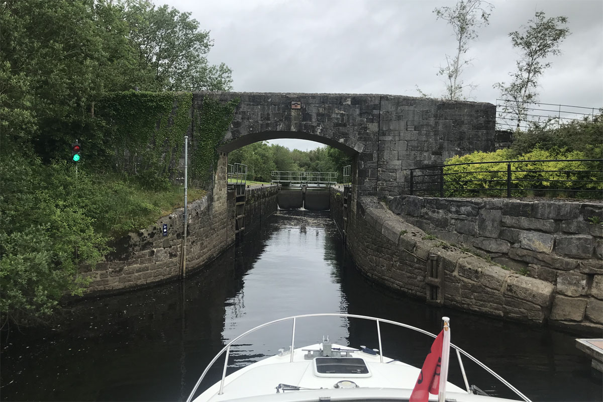
[[[377,196],[407,192],[408,169],[440,165],[473,151],[494,151],[492,104],[383,95],[379,107]]]

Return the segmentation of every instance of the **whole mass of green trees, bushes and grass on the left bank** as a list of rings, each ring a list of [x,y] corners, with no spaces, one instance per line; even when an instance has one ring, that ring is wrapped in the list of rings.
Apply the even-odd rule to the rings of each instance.
[[[101,259],[109,237],[182,199],[168,178],[192,94],[161,91],[226,90],[232,79],[207,63],[212,42],[197,21],[146,0],[4,1],[0,27],[0,315],[23,322],[81,292],[78,265]],[[77,179],[56,162],[75,139]],[[21,153],[32,145],[37,155]]]

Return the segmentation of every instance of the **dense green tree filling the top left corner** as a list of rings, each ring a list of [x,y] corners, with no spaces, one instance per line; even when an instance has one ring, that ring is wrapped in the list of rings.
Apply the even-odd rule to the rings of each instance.
[[[29,115],[23,130],[24,113],[11,113],[3,127],[11,139],[33,142],[48,161],[89,133],[93,102],[115,90],[128,68],[132,48],[121,13],[104,1],[0,4],[2,107],[13,104]]]

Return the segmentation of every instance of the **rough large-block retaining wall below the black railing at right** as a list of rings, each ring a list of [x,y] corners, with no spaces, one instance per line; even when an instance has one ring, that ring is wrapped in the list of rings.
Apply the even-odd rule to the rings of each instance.
[[[603,203],[396,196],[412,225],[555,287],[549,322],[602,328]]]

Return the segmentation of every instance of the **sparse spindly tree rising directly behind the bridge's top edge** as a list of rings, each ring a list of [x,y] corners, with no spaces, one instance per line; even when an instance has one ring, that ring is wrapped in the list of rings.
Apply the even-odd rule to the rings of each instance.
[[[438,75],[446,78],[446,93],[444,99],[459,101],[467,99],[463,95],[466,87],[474,88],[473,84],[465,84],[460,76],[471,59],[464,60],[463,55],[469,49],[469,41],[476,39],[477,28],[488,25],[488,18],[494,6],[482,0],[459,0],[455,7],[435,8],[437,19],[443,19],[450,24],[456,39],[456,54],[446,54],[446,66],[441,67]],[[421,95],[424,95],[420,91]]]

